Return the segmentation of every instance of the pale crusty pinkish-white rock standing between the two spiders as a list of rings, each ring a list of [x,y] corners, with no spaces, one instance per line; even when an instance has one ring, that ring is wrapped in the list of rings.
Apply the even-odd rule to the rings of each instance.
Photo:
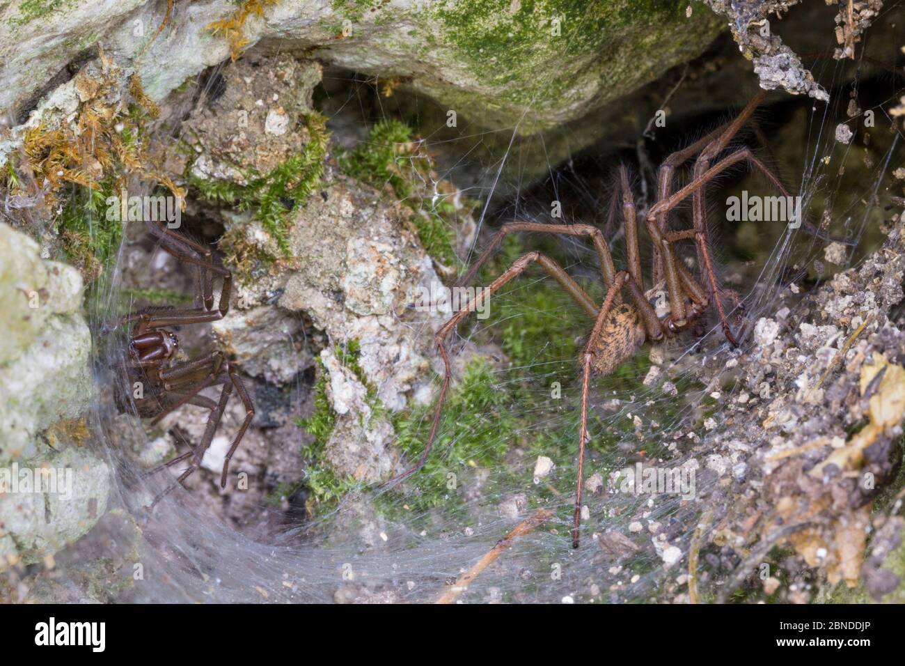
[[[291,229],[300,270],[278,304],[308,314],[336,344],[357,341],[377,397],[400,410],[419,381],[430,381],[424,354],[432,338],[413,337],[410,328],[442,321],[437,308],[414,312],[440,279],[398,204],[343,177],[324,191],[326,200],[312,199]]]

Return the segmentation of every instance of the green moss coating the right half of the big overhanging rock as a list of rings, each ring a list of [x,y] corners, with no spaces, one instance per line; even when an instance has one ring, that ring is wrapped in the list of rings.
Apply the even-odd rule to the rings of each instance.
[[[441,2],[433,16],[443,43],[485,86],[497,91],[496,106],[560,107],[582,100],[589,75],[606,82],[605,92],[619,96],[643,79],[700,51],[718,21],[700,6],[694,28],[684,15],[688,0],[510,0]],[[694,5],[700,5],[694,3]],[[652,49],[666,43],[667,48]],[[703,39],[702,39],[703,37]],[[556,74],[550,63],[567,64]],[[595,65],[594,63],[605,63]]]

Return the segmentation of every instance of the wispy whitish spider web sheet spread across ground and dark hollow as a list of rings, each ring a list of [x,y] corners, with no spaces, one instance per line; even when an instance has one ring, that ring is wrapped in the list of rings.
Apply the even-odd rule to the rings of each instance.
[[[884,11],[900,9],[897,4]],[[829,50],[834,47],[832,38],[827,31]],[[870,31],[865,39],[869,51]],[[733,147],[756,147],[757,154],[781,172],[786,185],[804,199],[815,223],[821,221],[820,211],[830,211],[828,232],[852,243],[845,250],[847,265],[854,265],[877,244],[874,229],[883,215],[882,199],[889,196],[890,172],[900,162],[902,145],[898,125],[888,138],[880,137],[891,126],[888,110],[899,99],[900,79],[878,72],[870,63],[859,62],[854,67],[857,75],[852,84],[842,64],[832,59],[814,64],[815,78],[831,92],[829,105],[771,97],[758,111],[757,119],[769,142],[785,141],[795,150],[777,150],[773,145],[771,154],[749,130],[732,143]],[[425,149],[438,157],[437,179],[456,183],[466,196],[482,202],[475,214],[478,233],[464,257],[467,261],[480,254],[490,233],[504,221],[549,222],[552,200],[563,204],[564,215],[558,221],[602,226],[619,163],[631,170],[639,219],[643,219],[653,205],[656,189],[651,165],[655,167],[670,151],[728,121],[755,92],[752,75],[738,97],[719,110],[686,114],[669,121],[668,129],[654,127],[653,139],[641,140],[645,127],[652,130],[650,114],[646,114],[632,140],[607,140],[567,159],[549,159],[547,173],[538,177],[527,165],[538,151],[547,152],[550,139],[544,132],[525,139],[519,133],[523,127],[490,131],[468,126],[451,136],[430,130],[427,111],[422,123],[421,110],[429,107],[429,101],[414,98],[404,106],[377,95],[365,77],[350,72],[328,72],[328,76],[341,80],[327,111],[334,127],[349,115],[357,117],[351,124],[342,120],[347,130],[345,134],[336,130],[334,140],[354,145],[376,121],[407,116],[414,119]],[[680,81],[675,87],[681,91],[682,85]],[[662,100],[673,83],[657,86],[652,94]],[[864,169],[842,173],[838,168],[862,159],[867,151],[856,141],[846,145],[835,140],[837,123],[850,120],[846,107],[853,90],[862,114],[873,111],[876,117],[869,178],[854,177]],[[529,114],[520,122],[529,122]],[[688,169],[681,169],[676,189],[688,181]],[[453,357],[470,353],[467,350],[474,346],[489,350],[483,377],[489,384],[482,386],[489,385],[492,393],[491,400],[477,406],[487,412],[472,413],[477,418],[467,419],[466,430],[462,430],[465,421],[447,418],[441,423],[432,456],[454,466],[454,488],[437,494],[433,481],[417,475],[403,487],[382,493],[357,487],[313,520],[281,508],[259,507],[262,516],[269,518],[262,518],[262,526],[253,531],[237,530],[223,513],[193,501],[192,494],[181,489],[169,493],[153,513],[148,512],[148,498],[167,489],[172,478],[143,476],[129,454],[148,446],[148,434],[137,420],[123,420],[112,405],[110,391],[105,390],[126,381],[110,370],[125,353],[122,332],[119,337],[110,336],[98,349],[101,400],[92,428],[115,469],[115,497],[111,499],[115,508],[93,534],[110,537],[113,545],[108,555],[122,571],[128,573],[140,564],[144,572],[143,580],[119,598],[218,603],[429,602],[449,592],[453,579],[492,552],[502,537],[538,510],[548,512],[548,519],[513,539],[510,549],[461,592],[460,600],[624,603],[681,595],[688,578],[689,548],[699,531],[704,507],[676,493],[622,492],[614,474],[639,462],[669,469],[696,462],[699,491],[719,483],[719,476],[705,473],[707,462],[700,450],[692,450],[707,437],[710,420],[719,428],[719,401],[711,398],[712,394],[719,393],[726,400],[738,398],[744,390],[735,385],[729,369],[731,360],[749,343],[754,324],[781,307],[794,311],[799,294],[829,275],[824,260],[826,243],[804,229],[761,223],[755,227],[753,249],[742,247],[738,229],[724,219],[724,202],[742,189],[772,194],[763,178],[749,175],[746,169],[733,169],[708,190],[708,218],[720,280],[723,287],[738,293],[745,307],[748,334],[742,350],[733,350],[725,342],[719,322],[710,316],[703,320],[700,335],[689,333],[665,343],[653,352],[653,359],[651,348],[645,346],[614,375],[592,381],[584,478],[586,484],[596,486],[590,479],[598,477],[599,489],[586,487],[587,516],[582,545],[576,550],[570,544],[581,388],[576,352],[593,322],[537,269],[491,296],[487,320],[462,325],[449,339]],[[683,205],[672,217],[673,229],[690,226],[689,208],[688,203]],[[620,229],[613,231],[611,244],[617,267],[621,267],[624,238]],[[649,243],[644,232],[642,236],[649,281]],[[540,236],[521,236],[518,242],[518,246],[514,242],[504,245],[500,256],[511,259],[519,250],[542,248],[586,286],[597,303],[602,300],[599,269],[589,244],[575,238]],[[681,255],[696,272],[693,246],[682,246]],[[95,332],[110,323],[111,314],[121,308],[122,275],[128,261],[124,245],[110,272],[110,282],[93,294],[91,325]],[[496,270],[492,275],[499,274],[502,261],[492,264],[491,270]],[[424,325],[414,328],[412,335],[429,340],[433,329]],[[719,385],[701,383],[700,369],[705,364],[726,367],[727,362],[729,367],[721,375],[724,381]],[[440,380],[438,375],[437,388]],[[452,391],[461,385],[462,376],[458,376]],[[303,416],[302,405],[309,400],[312,387],[298,381],[291,391],[299,416]],[[424,430],[424,420],[430,418],[431,411],[424,410],[422,421],[413,427],[420,423]],[[464,439],[472,444],[467,458],[460,459],[456,446]],[[285,445],[299,448],[296,441]],[[542,456],[554,467],[535,478]],[[421,500],[429,494],[436,501],[427,507]],[[224,505],[229,502],[230,497],[224,496]],[[667,538],[658,539],[659,535]],[[680,553],[672,567],[668,565],[674,557],[666,553],[671,547]],[[73,572],[75,566],[72,564]]]

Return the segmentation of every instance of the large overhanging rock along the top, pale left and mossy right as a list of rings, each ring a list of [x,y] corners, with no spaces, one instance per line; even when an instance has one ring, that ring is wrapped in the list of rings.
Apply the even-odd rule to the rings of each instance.
[[[686,0],[253,2],[262,15],[228,0],[176,4],[172,13],[163,0],[16,0],[2,14],[0,107],[23,110],[100,40],[135,60],[159,100],[231,52],[279,39],[328,63],[395,77],[483,124],[536,131],[652,81],[719,31],[702,8],[686,18]],[[223,22],[218,34],[215,21]],[[526,111],[538,122],[519,123]]]

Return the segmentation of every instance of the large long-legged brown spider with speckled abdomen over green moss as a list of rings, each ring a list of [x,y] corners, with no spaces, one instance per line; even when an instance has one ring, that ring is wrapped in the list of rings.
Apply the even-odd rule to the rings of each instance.
[[[719,315],[719,322],[727,340],[732,345],[738,346],[736,335],[732,333],[727,320],[726,308],[723,305],[725,296],[720,294],[713,260],[710,256],[707,221],[704,212],[704,188],[710,180],[714,179],[722,171],[729,169],[730,166],[737,162],[747,160],[750,165],[763,173],[767,180],[784,197],[789,196],[782,182],[748,148],[733,150],[711,166],[711,162],[726,149],[729,140],[748,122],[751,114],[763,98],[764,92],[758,92],[734,121],[711,132],[688,148],[672,153],[663,161],[659,169],[657,201],[648,210],[644,223],[653,242],[653,285],[662,286],[665,284],[666,292],[669,295],[669,312],[667,314],[658,316],[648,300],[652,292],[645,294],[644,291],[634,200],[629,188],[628,175],[624,168],[620,169],[620,178],[615,193],[615,196],[618,196],[621,191],[623,199],[625,261],[627,264],[624,271],[616,272],[604,233],[597,227],[590,225],[510,222],[500,228],[500,231],[491,238],[487,249],[484,250],[474,265],[459,280],[458,285],[471,283],[478,269],[490,258],[506,234],[528,231],[560,236],[584,236],[593,243],[600,261],[600,271],[607,287],[604,303],[598,307],[585,290],[548,256],[544,256],[538,251],[532,251],[520,256],[502,275],[491,283],[483,294],[479,292],[479,295],[472,299],[467,307],[453,315],[435,334],[437,349],[443,359],[445,372],[443,385],[433,412],[433,425],[430,437],[418,462],[402,474],[386,481],[381,487],[395,485],[413,475],[424,467],[424,462],[431,452],[437,428],[440,424],[440,417],[443,413],[443,401],[446,398],[446,391],[449,389],[452,375],[449,355],[446,352],[446,337],[456,329],[462,319],[481,305],[484,297],[489,297],[498,291],[502,285],[510,282],[510,280],[528,268],[531,263],[536,262],[562,286],[567,294],[575,299],[576,303],[585,310],[591,319],[595,320],[594,328],[587,340],[585,351],[580,360],[582,368],[581,428],[578,436],[578,478],[576,481],[575,518],[572,529],[572,546],[578,547],[585,445],[588,439],[587,397],[591,374],[596,373],[602,376],[610,374],[620,363],[631,358],[644,343],[657,343],[664,338],[671,338],[682,331],[688,330],[711,305]],[[682,164],[695,155],[698,158],[694,164],[691,182],[673,193],[675,169],[681,167]],[[690,196],[692,198],[691,209],[694,227],[683,231],[670,230],[668,220],[670,211]],[[615,208],[611,207],[610,210],[612,217]],[[806,221],[805,229],[821,236],[819,230]],[[675,254],[673,245],[686,239],[693,239],[696,243],[698,265],[700,266],[703,282],[707,285],[706,289],[691,275]],[[628,302],[623,301],[623,289],[628,293]],[[740,305],[736,303],[736,306],[739,308],[736,323],[740,323]]]

